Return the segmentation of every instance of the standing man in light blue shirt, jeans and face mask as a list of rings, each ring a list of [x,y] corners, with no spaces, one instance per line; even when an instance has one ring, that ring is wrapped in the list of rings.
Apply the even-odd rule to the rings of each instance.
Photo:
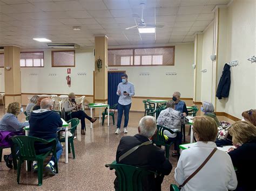
[[[117,86],[117,95],[119,100],[117,104],[118,118],[117,118],[117,130],[116,134],[120,133],[120,126],[122,122],[122,116],[124,112],[124,133],[127,133],[127,125],[129,122],[129,112],[132,104],[132,96],[134,96],[134,85],[128,81],[127,74],[121,75],[122,82]]]

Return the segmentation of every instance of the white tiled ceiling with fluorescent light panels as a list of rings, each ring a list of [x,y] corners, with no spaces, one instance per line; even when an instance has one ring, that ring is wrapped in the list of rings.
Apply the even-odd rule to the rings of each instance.
[[[139,34],[132,13],[146,23],[163,24],[155,34]],[[213,20],[212,9],[230,0],[0,0],[0,45],[46,48],[32,38],[52,43],[94,46],[94,35],[106,34],[110,46],[187,43]],[[156,14],[155,14],[156,9]],[[72,26],[81,26],[73,31]]]

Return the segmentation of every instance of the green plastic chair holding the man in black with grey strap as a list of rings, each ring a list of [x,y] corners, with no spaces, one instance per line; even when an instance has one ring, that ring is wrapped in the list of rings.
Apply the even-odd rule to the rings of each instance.
[[[111,170],[115,169],[118,179],[118,190],[133,191],[143,190],[143,178],[149,175],[157,175],[156,172],[148,171],[131,165],[117,164],[113,161],[112,164],[107,164]]]

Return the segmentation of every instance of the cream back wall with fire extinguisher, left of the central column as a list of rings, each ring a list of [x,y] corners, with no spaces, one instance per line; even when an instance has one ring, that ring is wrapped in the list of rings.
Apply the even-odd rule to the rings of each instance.
[[[75,59],[76,67],[70,67],[71,74],[67,74],[66,67],[51,67],[51,50],[44,50],[43,68],[21,68],[22,93],[69,94],[73,91],[78,95],[93,95],[93,48],[76,49]],[[71,87],[66,84],[67,75],[71,77]]]

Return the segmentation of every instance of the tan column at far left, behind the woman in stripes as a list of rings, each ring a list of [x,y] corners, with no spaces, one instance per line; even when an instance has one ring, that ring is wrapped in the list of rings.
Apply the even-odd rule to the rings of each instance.
[[[5,108],[11,102],[21,103],[20,48],[4,46]]]

